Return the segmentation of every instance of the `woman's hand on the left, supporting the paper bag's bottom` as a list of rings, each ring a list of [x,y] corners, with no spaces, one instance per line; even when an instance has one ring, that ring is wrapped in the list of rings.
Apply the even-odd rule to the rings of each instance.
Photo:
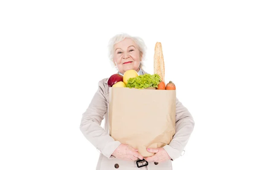
[[[134,149],[127,144],[120,144],[112,155],[125,161],[136,161],[138,158],[141,160],[143,159],[143,156],[138,153],[137,149]]]

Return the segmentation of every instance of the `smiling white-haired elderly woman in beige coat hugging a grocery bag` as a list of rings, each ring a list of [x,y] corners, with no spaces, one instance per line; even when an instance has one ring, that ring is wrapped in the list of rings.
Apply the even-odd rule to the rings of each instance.
[[[139,37],[117,34],[109,42],[111,62],[123,75],[134,69],[139,75],[146,74],[142,68],[145,44]],[[143,160],[138,150],[115,141],[108,133],[108,78],[99,81],[98,90],[81,118],[80,130],[100,152],[96,170],[172,170],[172,161],[183,152],[194,129],[194,120],[189,111],[176,99],[176,133],[170,144],[160,148],[148,148],[153,156],[144,158],[148,165],[138,168],[136,161]],[[101,127],[105,118],[105,128]],[[150,133],[150,132],[149,132]]]

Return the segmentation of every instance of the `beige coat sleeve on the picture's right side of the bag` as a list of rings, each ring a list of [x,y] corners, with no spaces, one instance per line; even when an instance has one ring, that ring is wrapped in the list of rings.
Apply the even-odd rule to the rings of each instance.
[[[175,135],[170,144],[163,147],[172,160],[177,159],[185,148],[194,129],[195,122],[188,109],[176,98]]]

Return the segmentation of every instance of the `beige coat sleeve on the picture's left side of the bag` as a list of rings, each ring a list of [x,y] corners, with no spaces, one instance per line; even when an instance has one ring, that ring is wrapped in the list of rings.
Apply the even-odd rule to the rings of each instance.
[[[115,141],[105,129],[101,127],[101,122],[107,112],[107,100],[104,95],[102,82],[91,100],[89,107],[82,114],[80,130],[85,138],[93,144],[108,159],[114,158],[111,154],[121,144]]]

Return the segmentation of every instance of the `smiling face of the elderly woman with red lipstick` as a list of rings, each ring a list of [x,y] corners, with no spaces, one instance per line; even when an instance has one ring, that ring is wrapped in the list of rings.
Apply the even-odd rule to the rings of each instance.
[[[114,63],[120,73],[124,74],[125,71],[131,69],[138,72],[141,59],[142,54],[133,40],[125,38],[114,45]]]

